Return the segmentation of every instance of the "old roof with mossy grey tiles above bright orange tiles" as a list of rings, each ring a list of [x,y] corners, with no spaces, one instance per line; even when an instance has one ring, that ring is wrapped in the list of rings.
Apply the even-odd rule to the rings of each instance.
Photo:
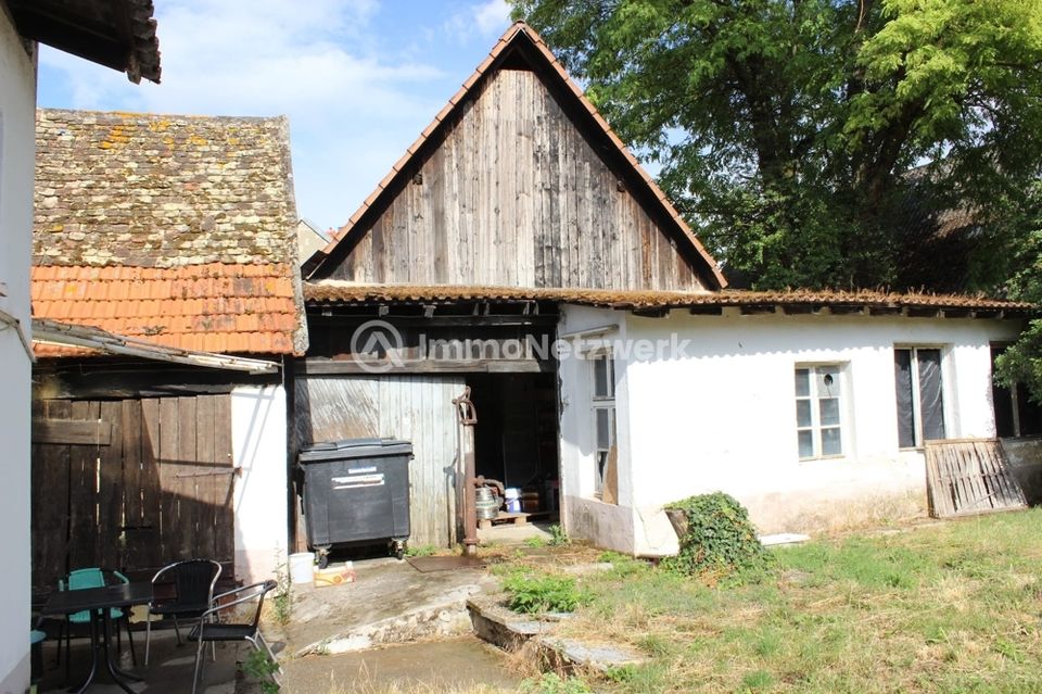
[[[285,118],[38,112],[35,317],[302,354],[295,227]]]

